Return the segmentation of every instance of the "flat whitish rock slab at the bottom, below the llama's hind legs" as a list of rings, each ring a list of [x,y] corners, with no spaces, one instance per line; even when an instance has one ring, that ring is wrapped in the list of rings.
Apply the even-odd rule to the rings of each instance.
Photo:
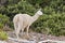
[[[36,43],[36,41],[28,41],[24,39],[14,39],[14,38],[9,38],[8,43]]]

